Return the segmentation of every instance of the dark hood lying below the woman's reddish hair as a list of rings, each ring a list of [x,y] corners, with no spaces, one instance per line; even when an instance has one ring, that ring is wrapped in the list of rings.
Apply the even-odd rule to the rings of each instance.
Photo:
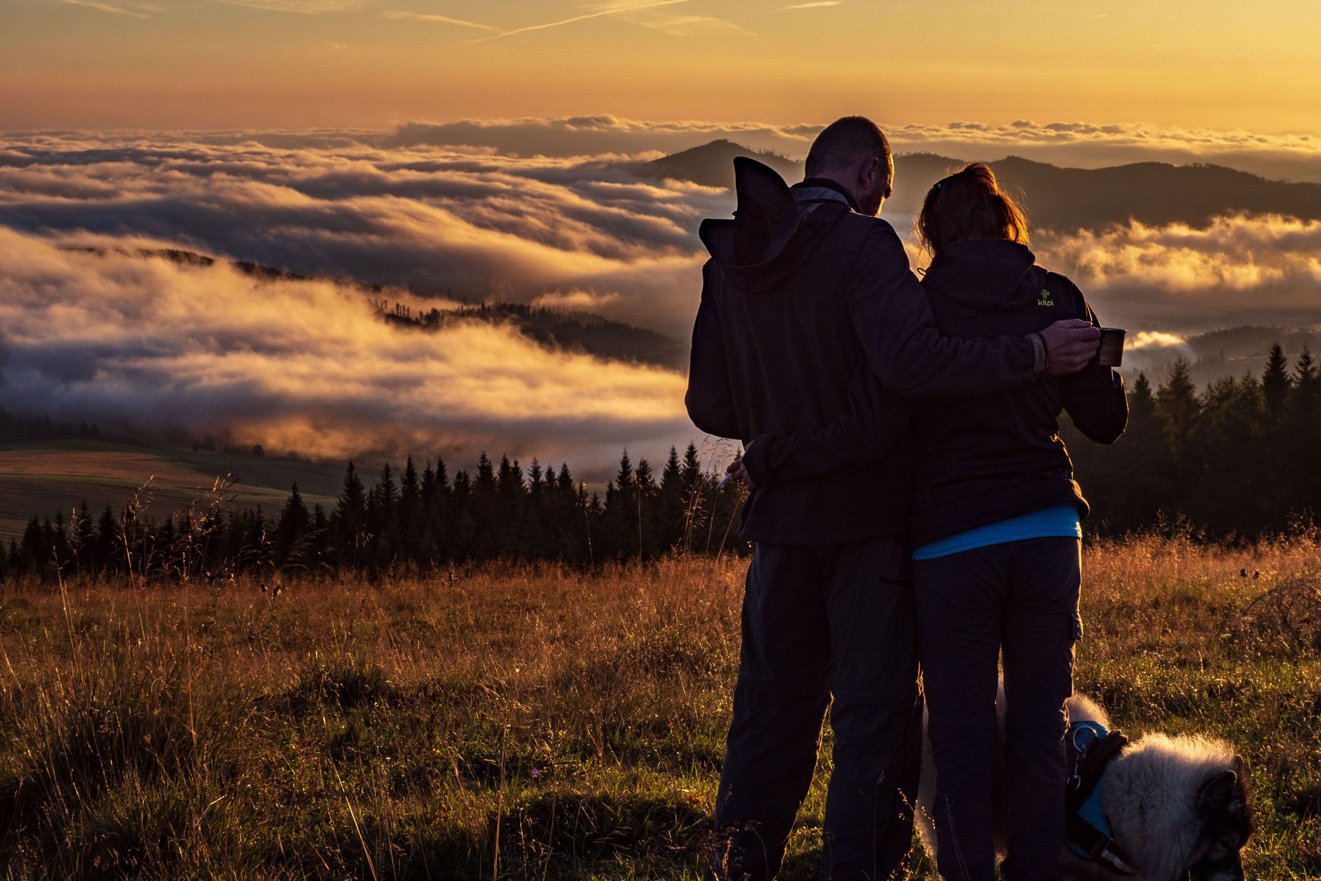
[[[1018,309],[1037,297],[1036,285],[1024,284],[1036,262],[1017,242],[960,239],[935,252],[922,284],[976,309]]]

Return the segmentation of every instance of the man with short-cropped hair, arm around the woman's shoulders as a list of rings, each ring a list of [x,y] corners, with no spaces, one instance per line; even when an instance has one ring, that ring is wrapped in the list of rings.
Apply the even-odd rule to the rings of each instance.
[[[779,870],[831,707],[822,877],[893,878],[911,841],[921,744],[898,394],[989,392],[1071,372],[1098,333],[1071,321],[1026,338],[941,337],[898,236],[876,218],[894,166],[868,119],[827,127],[793,189],[752,160],[734,166],[736,219],[701,227],[712,256],[686,399],[697,428],[744,441],[742,466],[761,485],[744,506],[756,551],[716,870],[754,881]],[[845,416],[875,431],[832,436]],[[804,449],[757,439],[795,433],[839,444],[836,470],[766,479],[781,468],[803,474]]]

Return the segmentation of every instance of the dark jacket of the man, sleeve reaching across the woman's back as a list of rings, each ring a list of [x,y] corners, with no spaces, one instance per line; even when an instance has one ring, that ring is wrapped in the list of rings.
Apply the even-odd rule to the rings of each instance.
[[[889,223],[853,211],[830,181],[790,190],[753,160],[734,170],[736,218],[701,227],[711,260],[686,403],[700,431],[750,444],[744,464],[762,489],[744,506],[742,536],[812,546],[904,532],[913,474],[896,392],[1016,386],[1033,376],[1033,345],[941,337]],[[822,473],[804,445],[770,442],[801,432],[822,442],[857,402],[873,431],[840,431]],[[778,468],[806,479],[775,482]]]

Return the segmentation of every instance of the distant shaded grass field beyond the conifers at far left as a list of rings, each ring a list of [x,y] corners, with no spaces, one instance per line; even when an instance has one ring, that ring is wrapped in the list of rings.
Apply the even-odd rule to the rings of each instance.
[[[239,507],[277,514],[297,482],[309,509],[329,511],[343,466],[83,440],[0,444],[0,542],[21,538],[33,515],[62,512],[67,522],[85,502],[94,518],[107,505],[118,516],[136,497],[149,502],[148,516],[165,520],[226,476],[234,481],[225,497]]]

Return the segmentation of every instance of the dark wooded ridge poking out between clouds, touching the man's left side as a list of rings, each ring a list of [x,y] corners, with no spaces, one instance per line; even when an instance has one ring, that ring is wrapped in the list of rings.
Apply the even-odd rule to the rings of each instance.
[[[563,312],[519,302],[491,302],[458,309],[413,313],[403,304],[376,304],[376,312],[392,324],[435,330],[461,321],[507,324],[524,337],[561,351],[583,353],[606,361],[654,365],[670,370],[687,366],[688,347],[655,330],[610,321],[589,312]]]

